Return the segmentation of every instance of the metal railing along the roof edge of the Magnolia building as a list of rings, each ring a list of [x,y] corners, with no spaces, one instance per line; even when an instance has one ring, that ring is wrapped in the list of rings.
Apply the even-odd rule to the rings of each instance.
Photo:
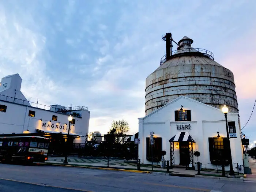
[[[76,113],[72,110],[88,110],[87,107],[85,106],[75,106],[75,107],[65,107],[65,108],[55,108],[53,106],[48,106],[48,105],[43,105],[40,103],[35,103],[35,102],[31,102],[31,101],[27,101],[27,100],[23,100],[23,99],[18,99],[18,98],[14,98],[14,97],[9,97],[6,95],[1,95],[0,94],[0,101],[7,101],[7,102],[12,102],[12,103],[17,103],[20,105],[25,105],[25,106],[31,106],[34,108],[39,108],[39,109],[44,109],[44,110],[51,110],[57,113],[65,113],[65,114],[71,114],[74,115],[76,117],[80,117],[79,113]],[[62,110],[60,110],[62,109]]]

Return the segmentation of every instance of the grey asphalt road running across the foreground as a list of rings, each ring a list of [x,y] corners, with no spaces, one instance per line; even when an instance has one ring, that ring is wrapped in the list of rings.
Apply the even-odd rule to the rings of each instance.
[[[0,164],[2,192],[256,191],[256,183],[56,166]]]

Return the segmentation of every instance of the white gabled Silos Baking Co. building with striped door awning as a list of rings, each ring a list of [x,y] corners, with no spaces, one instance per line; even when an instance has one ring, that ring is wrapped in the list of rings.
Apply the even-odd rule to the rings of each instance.
[[[236,138],[230,138],[232,161],[243,165],[238,113],[228,113],[227,121],[233,133],[237,133],[233,134],[237,135]],[[225,122],[220,109],[180,96],[139,118],[139,158],[142,163],[151,164],[150,132],[154,132],[153,155],[155,151],[165,150],[165,159],[170,161],[170,165],[192,166],[197,162],[193,152],[199,151],[202,167],[216,169],[218,165],[221,169],[218,154],[228,154]],[[234,171],[236,166],[233,164]],[[229,170],[228,163],[225,169]]]

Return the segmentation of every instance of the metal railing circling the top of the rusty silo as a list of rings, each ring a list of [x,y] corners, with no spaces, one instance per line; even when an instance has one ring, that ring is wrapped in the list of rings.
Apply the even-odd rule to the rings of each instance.
[[[211,60],[214,60],[214,54],[212,52],[206,49],[201,49],[201,48],[185,48],[180,50],[174,50],[172,51],[171,58],[173,56],[182,56],[187,53],[202,53],[202,55],[209,57]],[[160,65],[165,63],[165,61],[166,61],[166,54],[161,58]]]

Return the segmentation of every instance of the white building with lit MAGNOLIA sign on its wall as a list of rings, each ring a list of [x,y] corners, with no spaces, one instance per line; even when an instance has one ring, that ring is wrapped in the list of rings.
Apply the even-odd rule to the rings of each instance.
[[[0,83],[0,133],[41,133],[50,138],[66,138],[68,116],[72,115],[70,135],[79,143],[89,129],[90,111],[84,106],[40,105],[21,93],[19,74],[2,78]],[[60,133],[60,134],[59,134]],[[84,138],[82,138],[84,139]],[[54,139],[55,141],[55,139]]]

